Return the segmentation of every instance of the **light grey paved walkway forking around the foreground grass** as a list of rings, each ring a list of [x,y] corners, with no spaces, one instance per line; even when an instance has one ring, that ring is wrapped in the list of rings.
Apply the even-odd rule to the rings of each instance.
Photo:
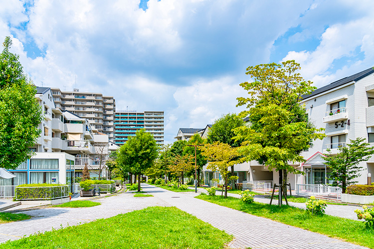
[[[143,184],[142,184],[143,185]],[[22,212],[32,219],[0,225],[0,242],[17,240],[38,231],[50,231],[66,226],[109,218],[120,213],[149,206],[175,206],[220,230],[232,234],[231,248],[252,249],[364,249],[350,243],[291,227],[237,210],[221,207],[196,198],[194,192],[176,193],[144,184],[144,191],[155,197],[133,198],[132,193],[95,200],[102,205],[82,208],[44,208]],[[198,194],[198,193],[197,193]]]

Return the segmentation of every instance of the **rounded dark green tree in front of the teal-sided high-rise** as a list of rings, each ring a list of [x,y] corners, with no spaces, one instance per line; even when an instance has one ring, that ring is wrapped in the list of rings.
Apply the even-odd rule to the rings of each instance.
[[[138,192],[140,192],[140,177],[151,167],[158,155],[159,146],[153,135],[140,129],[124,145],[118,153],[119,166],[130,169],[138,175]]]

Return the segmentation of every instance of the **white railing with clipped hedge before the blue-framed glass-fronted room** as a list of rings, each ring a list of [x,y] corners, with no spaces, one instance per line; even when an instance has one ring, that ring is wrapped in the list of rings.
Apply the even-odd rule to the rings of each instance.
[[[54,200],[69,196],[69,186],[53,187],[16,187],[15,200]]]

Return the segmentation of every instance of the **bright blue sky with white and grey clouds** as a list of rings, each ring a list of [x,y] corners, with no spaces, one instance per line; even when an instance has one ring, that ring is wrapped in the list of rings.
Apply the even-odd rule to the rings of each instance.
[[[164,111],[165,143],[239,113],[246,68],[294,59],[322,87],[374,66],[372,0],[0,0],[36,86]]]

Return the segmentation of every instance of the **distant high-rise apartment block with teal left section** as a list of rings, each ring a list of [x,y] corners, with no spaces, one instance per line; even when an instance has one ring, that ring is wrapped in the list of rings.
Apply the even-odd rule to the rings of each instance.
[[[114,116],[114,141],[124,144],[138,129],[150,132],[157,144],[164,144],[164,112],[116,111]]]

